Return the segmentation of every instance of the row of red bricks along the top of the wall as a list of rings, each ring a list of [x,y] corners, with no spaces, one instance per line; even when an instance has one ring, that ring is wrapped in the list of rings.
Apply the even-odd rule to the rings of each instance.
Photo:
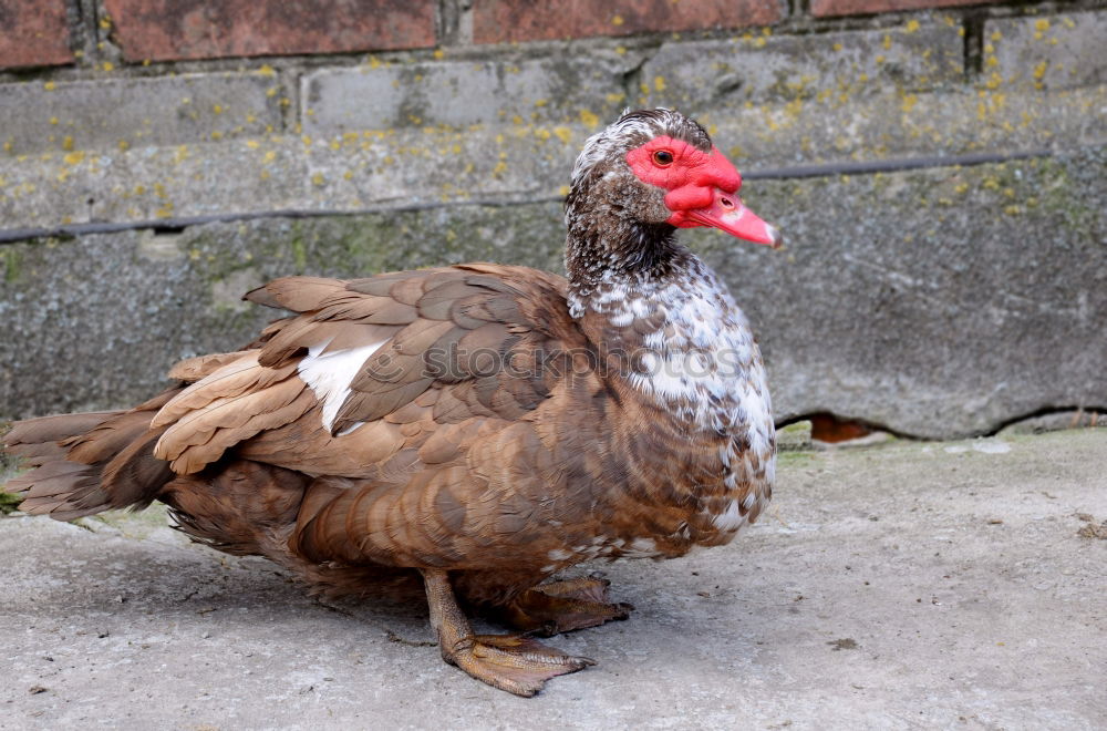
[[[464,48],[780,27],[837,28],[842,18],[871,23],[881,13],[951,9],[979,28],[990,7],[1049,13],[1096,2],[1002,3],[1000,0],[3,0],[0,69],[55,65],[112,69],[269,55],[325,55],[396,49]],[[1003,14],[1006,14],[1003,11]],[[124,72],[124,69],[120,69]]]

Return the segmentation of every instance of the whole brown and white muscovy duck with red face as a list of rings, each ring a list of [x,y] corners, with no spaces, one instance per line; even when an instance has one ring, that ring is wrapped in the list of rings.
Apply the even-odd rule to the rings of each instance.
[[[470,264],[288,277],[296,315],[175,366],[127,411],[18,423],[8,485],[59,519],[162,501],[180,529],[317,591],[423,580],[443,658],[532,696],[593,661],[536,632],[623,619],[590,559],[727,543],[772,494],[761,354],[718,277],[676,241],[777,246],[704,128],[664,110],[590,137],[566,202],[568,278]],[[382,589],[383,590],[383,589]],[[462,606],[520,630],[474,635]]]

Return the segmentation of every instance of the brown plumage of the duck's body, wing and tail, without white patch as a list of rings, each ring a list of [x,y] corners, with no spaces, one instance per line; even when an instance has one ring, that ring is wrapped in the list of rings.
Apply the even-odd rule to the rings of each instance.
[[[598,373],[565,289],[496,265],[277,280],[248,298],[298,315],[258,348],[179,363],[190,383],[131,411],[17,425],[8,449],[38,469],[9,488],[60,518],[162,500],[198,539],[293,567],[475,572],[462,584],[489,603],[588,558],[730,537],[711,505],[745,497],[721,486],[726,437],[690,440]],[[298,366],[381,341],[328,426]]]

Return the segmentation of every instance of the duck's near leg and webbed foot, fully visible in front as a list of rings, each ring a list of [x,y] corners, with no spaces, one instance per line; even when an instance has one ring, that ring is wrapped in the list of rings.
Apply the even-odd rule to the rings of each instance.
[[[550,678],[596,665],[596,660],[566,655],[521,635],[474,635],[446,572],[424,569],[422,574],[442,658],[477,680],[529,698]]]

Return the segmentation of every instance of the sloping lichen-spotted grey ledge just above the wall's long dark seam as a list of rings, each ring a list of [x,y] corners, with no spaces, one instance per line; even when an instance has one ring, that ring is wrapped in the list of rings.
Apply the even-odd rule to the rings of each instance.
[[[618,114],[618,105],[609,106],[600,110],[608,114],[603,123]],[[1107,140],[1107,86],[897,93],[852,104],[814,100],[705,110],[700,120],[745,173],[836,161],[1064,150]],[[552,199],[567,192],[572,161],[601,123],[598,113],[589,113],[594,119],[583,122],[578,115],[565,124],[353,127],[126,151],[0,155],[0,220],[7,228],[49,228],[282,209]],[[340,120],[320,116],[310,124],[340,128]],[[196,128],[185,131],[201,136]]]

